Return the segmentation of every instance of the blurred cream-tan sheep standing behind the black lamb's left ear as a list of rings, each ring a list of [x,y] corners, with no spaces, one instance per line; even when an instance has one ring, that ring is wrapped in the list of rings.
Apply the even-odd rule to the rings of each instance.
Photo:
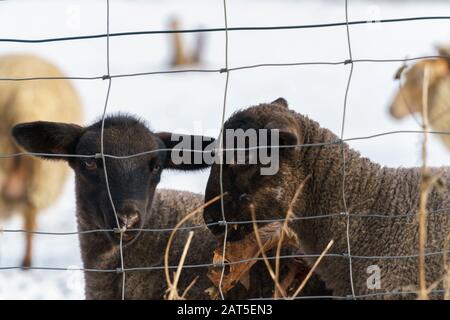
[[[0,56],[0,78],[64,77],[42,58],[15,54]],[[80,99],[70,81],[0,80],[0,155],[21,152],[11,128],[20,122],[45,119],[79,123]],[[14,213],[24,217],[24,229],[34,231],[36,214],[55,202],[63,189],[67,165],[28,156],[0,158],[0,222]],[[32,234],[26,235],[23,266],[31,265]]]

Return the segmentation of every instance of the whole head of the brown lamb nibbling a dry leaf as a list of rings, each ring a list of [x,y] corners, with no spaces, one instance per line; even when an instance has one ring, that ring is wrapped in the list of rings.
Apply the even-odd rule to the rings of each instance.
[[[243,145],[239,145],[236,137],[242,138],[242,135],[245,139],[241,140],[245,140],[247,150],[245,154],[241,153],[239,161]],[[264,139],[265,135],[267,139]],[[228,223],[251,221],[252,212],[257,220],[278,219],[286,215],[290,200],[302,180],[302,172],[298,168],[301,150],[291,146],[302,142],[295,113],[288,109],[282,98],[238,111],[226,121],[222,185],[223,213]],[[233,148],[239,150],[231,152]],[[266,152],[269,157],[265,156]],[[211,167],[205,201],[221,194],[220,167],[218,163]],[[216,236],[223,236],[225,228],[220,223],[223,221],[220,201],[205,208],[204,219]],[[237,241],[250,232],[253,232],[251,223],[228,225],[227,239]]]

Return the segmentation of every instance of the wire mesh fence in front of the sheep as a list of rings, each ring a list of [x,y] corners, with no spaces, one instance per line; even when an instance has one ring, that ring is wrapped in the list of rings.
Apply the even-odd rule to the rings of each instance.
[[[96,76],[68,76],[68,77],[47,77],[45,75],[38,76],[38,77],[29,77],[29,78],[0,78],[0,81],[34,81],[34,80],[61,80],[61,79],[68,79],[68,80],[102,80],[108,82],[107,87],[107,93],[105,96],[105,102],[104,102],[104,108],[103,108],[103,114],[101,118],[102,127],[101,127],[101,150],[100,153],[96,154],[86,154],[86,155],[80,155],[80,154],[47,154],[47,153],[30,153],[30,152],[21,152],[21,153],[15,153],[15,154],[0,154],[0,159],[4,158],[12,158],[12,157],[20,157],[20,156],[46,156],[46,157],[75,157],[75,158],[101,158],[103,162],[103,168],[104,168],[104,174],[106,178],[106,189],[108,191],[109,200],[111,203],[111,206],[113,208],[115,221],[117,224],[117,228],[114,229],[92,229],[92,230],[84,230],[84,231],[72,231],[72,232],[46,232],[46,231],[29,231],[24,229],[2,229],[0,232],[3,233],[32,233],[37,235],[50,235],[50,236],[69,236],[69,235],[82,235],[82,234],[93,234],[93,233],[119,233],[120,234],[120,265],[115,269],[89,269],[89,268],[78,268],[76,270],[80,270],[83,272],[93,272],[93,273],[118,273],[122,275],[122,290],[121,290],[121,296],[122,299],[126,299],[125,295],[125,287],[126,287],[126,274],[129,272],[137,272],[137,271],[152,271],[152,270],[163,270],[165,267],[164,265],[153,265],[148,267],[134,267],[134,268],[125,268],[124,267],[124,255],[123,255],[123,231],[121,231],[120,224],[119,224],[119,217],[115,208],[114,199],[111,195],[110,186],[108,183],[108,168],[106,166],[106,158],[112,158],[112,159],[130,159],[133,157],[140,157],[143,155],[148,155],[152,153],[157,152],[167,152],[167,151],[177,151],[177,149],[154,149],[154,150],[148,150],[145,152],[137,153],[137,154],[130,154],[126,156],[116,156],[112,154],[108,154],[104,150],[104,131],[105,131],[105,120],[106,115],[108,112],[108,101],[110,92],[112,90],[112,83],[115,78],[124,78],[124,77],[137,77],[137,76],[151,76],[151,75],[158,75],[158,74],[177,74],[177,73],[218,73],[218,74],[224,74],[225,75],[225,86],[224,86],[224,93],[223,93],[223,101],[221,106],[221,122],[220,122],[220,135],[219,135],[219,147],[217,150],[209,151],[209,152],[218,152],[220,156],[222,156],[222,153],[224,151],[228,151],[230,149],[226,149],[223,147],[223,131],[224,131],[224,124],[225,124],[225,114],[227,109],[227,96],[228,96],[228,88],[230,86],[230,73],[235,71],[241,71],[241,70],[248,70],[248,69],[254,69],[254,68],[264,68],[264,67],[294,67],[294,66],[311,66],[311,65],[328,65],[328,66],[349,66],[349,73],[347,78],[347,84],[345,89],[345,96],[343,101],[343,108],[342,108],[342,122],[341,122],[341,132],[340,132],[340,138],[334,141],[326,141],[322,143],[314,143],[314,144],[296,144],[296,145],[288,145],[288,146],[279,146],[279,148],[309,148],[309,147],[333,147],[333,146],[341,146],[342,150],[342,202],[344,206],[343,212],[335,212],[335,213],[328,213],[328,214],[310,214],[307,216],[301,216],[301,217],[292,217],[290,218],[290,221],[300,221],[300,220],[311,220],[311,219],[345,219],[346,223],[346,240],[347,240],[347,250],[346,252],[337,254],[337,253],[326,253],[324,256],[326,257],[333,257],[333,258],[341,258],[346,259],[348,261],[349,265],[349,279],[350,279],[350,288],[351,293],[347,296],[337,296],[337,295],[326,295],[326,296],[299,296],[295,299],[339,299],[339,300],[348,300],[348,299],[359,299],[359,298],[370,298],[370,297],[384,297],[389,295],[407,295],[407,294],[417,294],[417,291],[394,291],[394,292],[377,292],[373,294],[365,294],[365,295],[357,295],[354,288],[353,283],[353,263],[354,260],[380,260],[380,259],[386,259],[386,260],[401,260],[401,259],[417,259],[419,257],[419,254],[409,254],[409,255],[383,255],[383,256],[361,256],[361,255],[353,255],[351,251],[350,246],[350,220],[351,219],[364,219],[364,218],[379,218],[379,219],[408,219],[408,218],[414,218],[417,216],[417,212],[409,212],[405,214],[396,214],[396,213],[350,213],[347,208],[346,203],[346,194],[345,194],[345,185],[346,185],[346,161],[345,158],[345,152],[344,152],[344,143],[350,142],[350,141],[356,141],[356,140],[369,140],[378,138],[381,136],[387,136],[387,135],[397,135],[397,134],[423,134],[423,133],[429,133],[429,134],[436,134],[436,135],[448,135],[450,132],[443,132],[443,131],[424,131],[424,130],[397,130],[397,131],[388,131],[388,132],[381,132],[373,135],[368,136],[359,136],[359,137],[350,137],[350,138],[344,138],[345,134],[345,126],[346,126],[346,115],[347,115],[347,104],[348,104],[348,97],[349,92],[351,88],[352,83],[352,75],[353,70],[355,68],[356,64],[360,63],[406,63],[410,61],[417,61],[417,60],[423,60],[423,59],[433,59],[433,58],[448,58],[450,59],[450,56],[448,55],[427,55],[427,56],[418,56],[418,57],[412,57],[412,58],[393,58],[393,59],[354,59],[352,54],[352,44],[351,44],[351,32],[350,32],[350,26],[357,26],[357,25],[365,25],[367,23],[377,23],[377,24],[383,24],[383,23],[404,23],[408,21],[427,21],[427,20],[450,20],[450,16],[421,16],[421,17],[406,17],[406,18],[396,18],[396,19],[381,19],[377,21],[349,21],[348,17],[348,9],[349,9],[349,1],[345,0],[345,21],[343,22],[336,22],[336,23],[321,23],[321,24],[310,24],[310,25],[283,25],[283,26],[269,26],[269,27],[261,27],[261,26],[252,26],[252,27],[229,27],[228,26],[228,14],[227,14],[227,1],[223,0],[222,7],[223,7],[223,27],[218,28],[204,28],[204,29],[183,29],[183,30],[144,30],[144,31],[131,31],[131,32],[120,32],[120,33],[110,33],[110,1],[105,0],[106,2],[106,33],[103,34],[92,34],[92,35],[80,35],[80,36],[72,36],[72,37],[58,37],[58,38],[45,38],[45,39],[8,39],[8,38],[0,38],[0,42],[10,42],[10,43],[26,43],[26,44],[38,44],[38,43],[48,43],[48,42],[60,42],[60,41],[80,41],[80,40],[89,40],[89,39],[98,39],[98,38],[105,38],[106,39],[106,53],[105,53],[105,60],[107,62],[107,70],[105,74],[102,75],[96,75]],[[342,61],[301,61],[301,62],[292,62],[292,63],[264,63],[264,64],[255,64],[255,65],[244,65],[244,66],[237,66],[237,67],[229,67],[228,64],[228,51],[229,51],[229,41],[228,36],[229,32],[246,32],[246,31],[252,31],[252,32],[263,32],[267,30],[290,30],[290,29],[312,29],[312,28],[334,28],[334,27],[345,27],[346,29],[346,41],[348,46],[348,57],[346,60]],[[110,73],[110,38],[111,37],[129,37],[129,36],[141,36],[141,35],[154,35],[154,34],[172,34],[172,33],[212,33],[212,32],[221,32],[225,34],[225,43],[224,43],[224,59],[225,64],[223,67],[215,68],[215,69],[183,69],[183,70],[160,70],[160,71],[148,71],[148,72],[139,72],[139,73],[127,73],[127,74],[111,74]],[[234,148],[233,150],[252,150],[252,149],[259,149],[264,147],[250,147],[250,148]],[[184,151],[192,151],[192,152],[199,152],[198,150],[186,150]],[[181,151],[181,150],[180,150]],[[200,152],[207,152],[207,151],[200,151]],[[224,194],[226,190],[223,188],[223,161],[220,161],[220,189],[221,193]],[[225,261],[225,251],[226,251],[226,244],[227,244],[227,236],[228,236],[228,227],[230,225],[239,225],[239,224],[251,224],[254,223],[254,220],[248,220],[248,221],[227,221],[226,215],[225,215],[225,207],[224,207],[224,200],[223,197],[220,199],[221,201],[221,213],[222,213],[222,220],[208,223],[204,225],[197,225],[197,226],[189,226],[189,227],[180,227],[178,230],[196,230],[206,227],[212,227],[216,225],[222,225],[225,228],[225,236],[222,244],[222,261],[220,264],[217,263],[204,263],[204,264],[195,264],[195,265],[184,265],[183,268],[204,268],[204,267],[221,267],[221,278],[219,283],[219,293],[220,297],[222,299],[225,299],[225,293],[222,291],[222,284],[223,279],[226,271],[226,267],[233,265],[233,264],[241,264],[246,263],[250,261],[260,261],[263,260],[262,257],[256,257],[256,258],[250,258],[250,259],[242,259],[238,261],[228,262]],[[450,208],[441,208],[438,210],[429,211],[429,215],[446,215],[450,212]],[[256,220],[258,223],[271,223],[271,222],[282,222],[284,219],[263,219],[263,220]],[[165,228],[157,228],[157,229],[149,229],[149,228],[138,228],[138,229],[128,229],[127,231],[139,231],[139,232],[173,232],[175,229],[175,226],[167,226]],[[443,256],[450,253],[450,250],[443,250],[443,251],[436,251],[436,252],[426,252],[425,256],[431,257],[431,256]],[[314,253],[314,254],[290,254],[290,255],[281,255],[281,256],[269,256],[267,257],[269,260],[274,259],[293,259],[293,258],[318,258],[320,256],[320,253]],[[212,253],[211,253],[212,258]],[[176,269],[177,265],[169,265],[169,269]],[[22,266],[2,266],[0,267],[0,270],[12,270],[12,269],[29,269],[29,270],[47,270],[47,271],[65,271],[67,268],[62,267],[22,267]],[[441,294],[443,293],[443,290],[431,290],[430,294]],[[273,299],[273,297],[264,297],[260,298],[260,300],[265,299]]]

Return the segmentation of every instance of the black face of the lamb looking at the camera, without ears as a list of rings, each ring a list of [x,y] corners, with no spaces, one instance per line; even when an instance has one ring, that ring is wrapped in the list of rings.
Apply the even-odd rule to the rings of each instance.
[[[100,135],[100,128],[87,128],[76,144],[75,154],[100,153]],[[105,127],[106,155],[129,156],[164,148],[161,139],[139,123],[134,126],[116,124]],[[122,240],[124,243],[131,242],[140,233],[133,229],[142,229],[146,214],[150,212],[165,156],[163,152],[125,159],[106,156],[106,174],[102,158],[69,159],[69,164],[75,171],[78,203],[84,207],[80,212],[94,213],[95,215],[86,218],[97,228],[126,230],[122,234]],[[120,240],[119,233],[107,234],[111,240]]]

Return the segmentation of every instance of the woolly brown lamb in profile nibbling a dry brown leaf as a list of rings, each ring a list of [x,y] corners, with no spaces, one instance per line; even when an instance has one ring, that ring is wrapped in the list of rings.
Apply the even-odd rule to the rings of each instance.
[[[281,147],[319,146],[280,148],[279,171],[272,176],[259,175],[259,165],[223,165],[223,188],[228,192],[224,199],[227,221],[251,220],[251,205],[257,219],[284,218],[294,193],[305,181],[293,210],[300,219],[292,221],[290,227],[297,233],[302,251],[313,255],[307,258],[310,263],[330,240],[334,240],[329,255],[317,268],[318,275],[333,295],[344,298],[352,295],[347,256],[347,208],[355,295],[380,299],[415,297],[399,292],[414,292],[418,285],[419,244],[415,215],[419,203],[420,169],[384,167],[361,156],[346,143],[339,143],[339,138],[330,130],[289,110],[282,98],[233,114],[225,123],[225,129],[238,128],[278,129]],[[323,143],[326,145],[320,146]],[[233,146],[224,142],[224,147]],[[448,167],[433,168],[431,172],[440,173],[445,185],[450,185]],[[215,164],[211,168],[205,200],[217,194],[220,194],[219,165]],[[438,295],[432,295],[439,297],[442,292],[439,281],[445,273],[445,263],[448,263],[444,262],[442,254],[450,231],[448,187],[444,191],[434,188],[427,208],[430,214],[426,276],[428,285],[436,281],[440,284]],[[204,217],[207,223],[221,220],[220,206],[206,208]],[[223,237],[223,227],[215,225],[210,229],[219,238]],[[249,232],[252,232],[251,225],[239,225],[237,230],[229,230],[228,236],[230,240],[239,240]],[[380,286],[368,286],[373,274],[371,270],[376,267],[381,272]]]

